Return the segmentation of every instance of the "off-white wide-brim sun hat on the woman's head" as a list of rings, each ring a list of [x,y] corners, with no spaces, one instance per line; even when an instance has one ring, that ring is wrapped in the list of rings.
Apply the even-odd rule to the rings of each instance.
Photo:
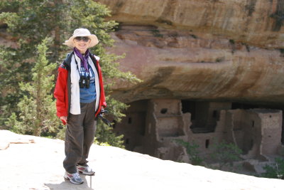
[[[89,32],[88,29],[86,28],[77,28],[73,35],[69,38],[69,40],[65,41],[65,43],[63,43],[64,45],[67,45],[71,48],[75,47],[74,44],[74,38],[76,38],[77,36],[87,36],[89,37],[89,39],[91,40],[91,43],[89,43],[89,47],[88,48],[92,48],[93,46],[96,46],[97,43],[99,43],[99,40],[97,39],[97,36],[94,34],[91,34]]]

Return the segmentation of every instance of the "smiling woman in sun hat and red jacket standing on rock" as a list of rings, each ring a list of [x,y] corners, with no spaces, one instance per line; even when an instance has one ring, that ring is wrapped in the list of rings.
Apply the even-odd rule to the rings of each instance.
[[[107,106],[99,57],[89,52],[97,43],[97,36],[86,28],[77,28],[65,41],[73,51],[58,68],[55,85],[57,115],[67,124],[64,177],[73,184],[84,182],[79,173],[94,174],[87,157],[94,141],[95,117]]]

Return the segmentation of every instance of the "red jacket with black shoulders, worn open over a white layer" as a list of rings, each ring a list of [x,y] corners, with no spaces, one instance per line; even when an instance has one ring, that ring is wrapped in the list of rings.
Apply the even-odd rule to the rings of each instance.
[[[58,78],[54,90],[54,97],[56,98],[56,109],[58,117],[68,116],[68,113],[70,111],[70,99],[71,99],[70,62],[72,55],[73,52],[70,53],[70,56],[68,56],[68,58],[64,60],[63,63],[58,68]],[[99,107],[94,115],[94,117],[97,117],[97,115],[102,109],[102,106],[107,107],[107,103],[105,101],[105,96],[104,96],[104,83],[102,80],[102,70],[101,67],[99,66],[99,60],[96,60],[96,58],[94,58],[94,55],[92,54],[91,58],[95,65],[95,68],[97,69],[97,73],[99,73],[99,89],[100,89]],[[63,122],[63,124],[65,125],[66,123]]]

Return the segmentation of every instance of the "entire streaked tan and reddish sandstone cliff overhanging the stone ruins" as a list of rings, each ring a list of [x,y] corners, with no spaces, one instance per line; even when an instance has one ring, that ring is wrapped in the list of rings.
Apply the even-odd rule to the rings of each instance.
[[[284,100],[283,0],[99,2],[121,23],[110,51],[143,80],[121,100]]]

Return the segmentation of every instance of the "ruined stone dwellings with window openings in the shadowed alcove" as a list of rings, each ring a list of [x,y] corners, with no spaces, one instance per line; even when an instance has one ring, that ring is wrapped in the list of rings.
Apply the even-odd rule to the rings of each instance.
[[[242,157],[251,160],[246,165],[253,167],[252,162],[268,162],[278,154],[282,120],[282,110],[232,110],[231,102],[153,99],[132,102],[114,132],[124,134],[126,149],[178,162],[190,160],[175,139],[195,142],[203,156],[225,140],[236,144]]]

